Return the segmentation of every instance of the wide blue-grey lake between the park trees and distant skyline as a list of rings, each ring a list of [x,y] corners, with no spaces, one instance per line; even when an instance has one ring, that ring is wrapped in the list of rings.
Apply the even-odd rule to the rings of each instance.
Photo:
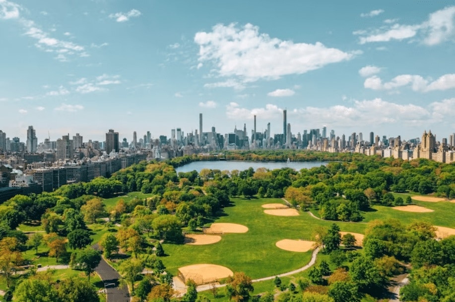
[[[194,161],[187,165],[176,168],[177,173],[179,172],[190,172],[196,170],[200,172],[202,169],[218,169],[218,170],[247,170],[252,167],[253,169],[266,168],[269,170],[281,169],[281,168],[292,168],[299,171],[300,169],[310,169],[313,167],[325,166],[328,161],[291,161],[291,162],[277,162],[277,161],[231,161],[231,160],[216,160],[216,161]]]

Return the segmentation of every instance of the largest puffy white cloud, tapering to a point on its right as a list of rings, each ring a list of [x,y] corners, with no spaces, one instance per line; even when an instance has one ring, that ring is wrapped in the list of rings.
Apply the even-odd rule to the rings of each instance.
[[[271,38],[252,24],[218,24],[211,32],[196,33],[194,41],[199,46],[199,62],[211,62],[218,76],[238,77],[242,82],[302,74],[355,55],[327,48],[320,42],[294,43]]]

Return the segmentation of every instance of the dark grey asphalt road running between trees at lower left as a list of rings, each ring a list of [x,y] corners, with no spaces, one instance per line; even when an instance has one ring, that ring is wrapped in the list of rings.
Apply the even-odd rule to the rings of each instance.
[[[100,250],[98,244],[95,244],[93,248]],[[107,302],[130,302],[128,287],[119,287],[120,274],[104,258],[101,258],[100,264],[95,268],[95,272],[105,284]]]

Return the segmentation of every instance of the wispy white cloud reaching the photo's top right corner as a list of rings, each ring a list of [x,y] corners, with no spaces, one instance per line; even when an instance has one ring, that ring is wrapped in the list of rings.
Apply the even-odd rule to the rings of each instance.
[[[431,13],[428,20],[414,25],[392,24],[378,29],[355,31],[359,35],[359,43],[389,42],[392,40],[405,40],[419,36],[421,42],[426,45],[436,45],[453,40],[455,35],[455,6],[445,7]],[[386,20],[387,24],[394,23],[395,19]]]

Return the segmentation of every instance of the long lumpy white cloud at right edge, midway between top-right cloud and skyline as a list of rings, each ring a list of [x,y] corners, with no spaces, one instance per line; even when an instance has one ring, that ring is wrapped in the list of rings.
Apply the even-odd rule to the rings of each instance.
[[[418,92],[454,89],[455,74],[445,74],[435,81],[426,80],[420,75],[402,74],[386,83],[383,83],[378,76],[372,76],[364,82],[365,88],[373,90],[391,90],[407,85],[411,85],[412,90]]]

